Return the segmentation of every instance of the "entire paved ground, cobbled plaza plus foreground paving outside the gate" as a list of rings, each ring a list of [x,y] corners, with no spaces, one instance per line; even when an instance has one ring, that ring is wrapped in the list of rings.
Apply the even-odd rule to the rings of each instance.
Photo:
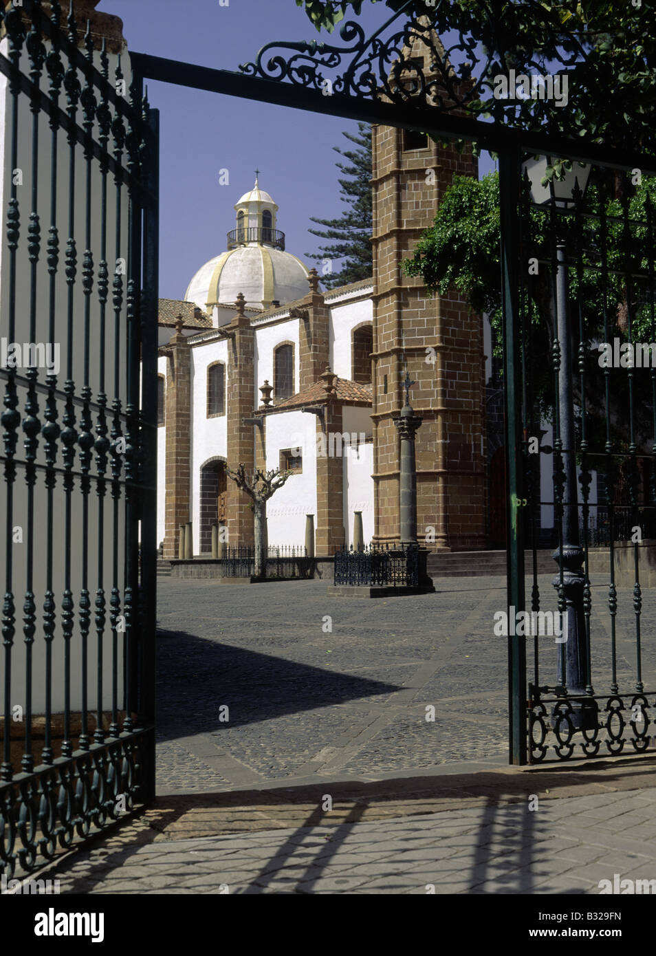
[[[505,578],[435,584],[355,601],[325,582],[164,579],[158,799],[55,861],[61,892],[595,895],[656,880],[656,754],[510,768],[492,634]],[[595,588],[600,680],[604,601]],[[629,675],[628,591],[619,604]]]

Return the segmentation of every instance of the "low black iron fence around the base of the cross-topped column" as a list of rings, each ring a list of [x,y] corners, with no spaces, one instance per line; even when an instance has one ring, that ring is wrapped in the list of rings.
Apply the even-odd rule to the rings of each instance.
[[[354,551],[353,546],[335,554],[334,584],[353,586],[404,587],[419,584],[417,547],[369,546]]]

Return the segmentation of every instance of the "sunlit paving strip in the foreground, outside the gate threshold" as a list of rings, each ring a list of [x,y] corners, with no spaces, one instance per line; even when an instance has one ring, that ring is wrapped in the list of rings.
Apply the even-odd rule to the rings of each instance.
[[[652,787],[371,821],[354,805],[332,825],[315,807],[302,826],[159,842],[142,823],[48,876],[64,894],[599,894],[656,880],[655,810]]]

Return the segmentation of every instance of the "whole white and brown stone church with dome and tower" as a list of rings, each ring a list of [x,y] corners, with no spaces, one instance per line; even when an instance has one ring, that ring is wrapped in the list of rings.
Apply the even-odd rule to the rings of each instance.
[[[302,547],[311,516],[316,554],[334,554],[353,542],[356,515],[365,543],[398,543],[394,419],[406,371],[422,418],[418,536],[435,551],[490,544],[489,325],[400,265],[452,177],[476,175],[477,161],[411,131],[374,126],[372,137],[370,280],[322,292],[286,250],[284,209],[256,180],[234,206],[225,249],[183,299],[160,300],[164,558],[178,556],[187,522],[194,555],[210,554],[217,522],[230,546],[252,546],[249,499],[226,472],[240,464],[292,471],[268,503],[270,545]]]

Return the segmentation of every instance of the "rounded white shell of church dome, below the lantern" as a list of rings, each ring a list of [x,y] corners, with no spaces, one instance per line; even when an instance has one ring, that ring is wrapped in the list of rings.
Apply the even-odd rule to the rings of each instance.
[[[248,245],[210,259],[194,275],[185,293],[211,313],[218,303],[232,304],[244,293],[246,304],[268,309],[273,301],[292,302],[308,293],[308,270],[291,252]]]

